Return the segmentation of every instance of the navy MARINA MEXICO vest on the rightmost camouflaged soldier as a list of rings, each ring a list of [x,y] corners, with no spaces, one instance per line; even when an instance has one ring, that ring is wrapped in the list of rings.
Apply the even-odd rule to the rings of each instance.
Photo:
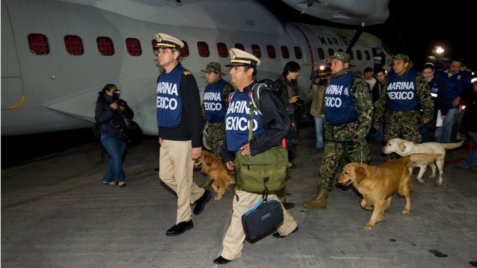
[[[411,111],[417,106],[415,71],[409,70],[402,76],[397,76],[394,70],[388,74],[389,85],[386,88],[388,93],[388,108],[394,111]]]

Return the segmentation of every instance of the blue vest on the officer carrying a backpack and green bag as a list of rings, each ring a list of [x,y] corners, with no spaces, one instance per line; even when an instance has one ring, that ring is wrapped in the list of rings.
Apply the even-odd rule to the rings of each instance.
[[[252,103],[252,91],[236,90],[232,93],[230,103],[225,114],[225,137],[227,138],[227,150],[237,151],[243,144],[248,142],[248,125],[250,121],[250,108]],[[263,132],[260,114],[254,112],[253,136]]]

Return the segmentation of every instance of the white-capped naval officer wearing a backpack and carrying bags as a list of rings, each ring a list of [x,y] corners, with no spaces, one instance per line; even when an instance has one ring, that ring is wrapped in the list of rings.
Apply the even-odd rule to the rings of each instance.
[[[257,83],[254,79],[257,74],[257,66],[260,60],[252,54],[243,50],[232,48],[229,50],[230,64],[225,65],[230,68],[230,82],[237,87],[229,98],[229,106],[225,114],[225,141],[223,161],[227,168],[234,170],[235,154],[251,154],[252,156],[264,152],[277,144],[280,144],[283,137],[290,129],[290,119],[286,116],[285,107],[280,99],[262,90],[259,93],[260,113],[254,114],[257,118],[257,126],[253,129],[253,138],[248,141],[249,124],[238,125],[237,122],[248,122],[250,114],[247,112],[246,104],[252,103],[252,88]],[[243,107],[243,108],[238,108]],[[283,110],[283,115],[279,112]],[[236,122],[236,123],[234,123]],[[237,189],[233,201],[233,214],[230,226],[227,229],[222,242],[220,256],[214,260],[215,264],[226,264],[238,259],[242,253],[245,233],[243,231],[242,215],[260,201],[261,194],[247,192]],[[274,193],[268,195],[269,200],[280,199]],[[298,231],[298,226],[293,217],[283,209],[283,222],[278,227],[278,232],[273,236],[282,238],[290,233]]]

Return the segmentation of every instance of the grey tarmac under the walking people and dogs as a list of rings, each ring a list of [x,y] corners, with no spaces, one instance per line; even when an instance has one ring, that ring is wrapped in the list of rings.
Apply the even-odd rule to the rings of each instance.
[[[372,165],[383,162],[381,146],[370,144]],[[193,215],[193,229],[166,236],[177,199],[158,178],[158,148],[155,138],[129,148],[124,188],[101,184],[108,159],[101,160],[95,144],[2,168],[1,267],[220,267],[212,261],[230,223],[233,194]],[[314,148],[313,128],[303,128],[286,196],[299,231],[245,241],[241,258],[223,267],[477,267],[477,174],[458,166],[468,148],[467,141],[448,151],[442,186],[427,178],[430,170],[423,184],[413,176],[409,215],[395,195],[386,220],[366,231],[372,212],[359,206],[351,187],[333,186],[326,210],[301,205],[316,193],[323,155]],[[194,180],[201,184],[205,176],[196,170]]]

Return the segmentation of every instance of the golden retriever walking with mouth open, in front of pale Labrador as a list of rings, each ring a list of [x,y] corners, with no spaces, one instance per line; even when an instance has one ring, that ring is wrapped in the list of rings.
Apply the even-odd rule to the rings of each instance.
[[[369,222],[363,227],[370,230],[377,222],[384,220],[384,212],[390,206],[394,192],[406,199],[403,214],[411,210],[411,173],[412,165],[425,165],[439,158],[440,155],[413,154],[397,160],[388,160],[383,165],[370,166],[362,163],[350,163],[343,168],[338,183],[347,186],[353,184],[363,199],[361,207],[373,210]]]

